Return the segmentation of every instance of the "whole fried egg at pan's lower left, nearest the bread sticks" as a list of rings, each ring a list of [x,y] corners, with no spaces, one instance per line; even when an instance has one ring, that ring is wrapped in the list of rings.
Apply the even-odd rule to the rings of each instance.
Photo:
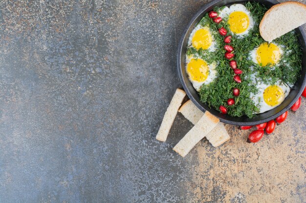
[[[217,77],[216,64],[208,64],[201,58],[186,58],[186,72],[194,88],[199,91],[203,84],[211,83]]]

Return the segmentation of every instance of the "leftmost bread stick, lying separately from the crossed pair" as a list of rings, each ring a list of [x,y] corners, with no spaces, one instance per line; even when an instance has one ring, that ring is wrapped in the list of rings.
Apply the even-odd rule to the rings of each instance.
[[[163,121],[159,127],[159,130],[156,135],[156,140],[165,142],[168,133],[171,129],[171,126],[174,122],[175,116],[177,114],[178,108],[181,106],[184,97],[186,96],[186,92],[176,89],[175,94],[169,104],[167,111],[165,112]]]

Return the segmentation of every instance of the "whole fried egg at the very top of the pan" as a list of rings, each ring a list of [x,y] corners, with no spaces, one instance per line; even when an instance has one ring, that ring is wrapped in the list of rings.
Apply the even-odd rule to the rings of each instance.
[[[231,33],[238,37],[247,35],[254,27],[251,12],[242,4],[233,4],[229,8],[224,7],[219,11],[219,16],[227,18]]]

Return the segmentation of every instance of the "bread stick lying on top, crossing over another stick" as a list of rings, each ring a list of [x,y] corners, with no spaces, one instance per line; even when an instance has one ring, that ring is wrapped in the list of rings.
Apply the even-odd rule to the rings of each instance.
[[[196,125],[175,145],[173,150],[182,157],[186,156],[208,132],[217,126],[218,123],[219,119],[206,111]]]

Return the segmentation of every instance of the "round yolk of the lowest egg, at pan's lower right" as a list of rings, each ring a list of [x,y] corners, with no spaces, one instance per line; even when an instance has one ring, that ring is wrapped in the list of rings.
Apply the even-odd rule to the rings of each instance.
[[[284,92],[282,88],[277,85],[271,85],[263,92],[264,102],[271,107],[280,104],[283,101],[283,98]]]

